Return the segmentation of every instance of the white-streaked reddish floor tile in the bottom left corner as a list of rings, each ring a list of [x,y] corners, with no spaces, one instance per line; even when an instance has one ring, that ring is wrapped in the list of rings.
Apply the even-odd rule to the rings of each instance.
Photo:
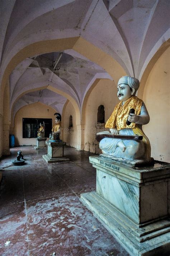
[[[0,255],[27,255],[27,223],[24,202],[0,208]],[[10,241],[5,246],[6,241]]]

